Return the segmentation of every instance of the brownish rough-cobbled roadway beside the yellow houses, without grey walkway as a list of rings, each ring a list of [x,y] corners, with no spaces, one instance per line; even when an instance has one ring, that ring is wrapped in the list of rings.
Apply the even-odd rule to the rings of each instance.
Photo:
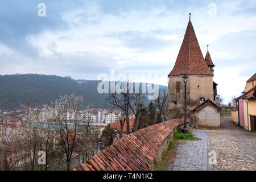
[[[250,133],[231,121],[221,117],[221,128],[205,130],[210,135],[212,150],[217,154],[214,170],[256,170],[256,133]]]

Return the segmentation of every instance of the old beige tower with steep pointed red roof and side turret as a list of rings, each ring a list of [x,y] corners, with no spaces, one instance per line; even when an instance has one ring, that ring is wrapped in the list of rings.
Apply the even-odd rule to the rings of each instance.
[[[174,68],[169,73],[168,110],[170,119],[176,118],[183,110],[184,82],[183,75],[188,75],[187,105],[200,104],[214,100],[217,95],[217,84],[213,82],[213,67],[209,51],[203,56],[190,17],[184,39]]]

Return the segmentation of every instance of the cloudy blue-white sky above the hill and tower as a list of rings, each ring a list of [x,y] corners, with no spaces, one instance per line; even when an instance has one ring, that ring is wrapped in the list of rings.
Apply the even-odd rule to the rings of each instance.
[[[39,3],[46,16],[38,16]],[[0,74],[96,80],[113,68],[158,74],[139,81],[167,85],[189,13],[204,56],[209,44],[218,94],[229,102],[256,72],[256,1],[2,0]]]

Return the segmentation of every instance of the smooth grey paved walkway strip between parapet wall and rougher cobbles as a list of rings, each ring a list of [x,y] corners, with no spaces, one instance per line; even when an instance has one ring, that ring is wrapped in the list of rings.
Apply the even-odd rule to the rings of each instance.
[[[178,140],[174,148],[176,158],[168,166],[168,171],[211,171],[208,163],[210,138],[204,130],[192,130],[195,137],[201,140]]]

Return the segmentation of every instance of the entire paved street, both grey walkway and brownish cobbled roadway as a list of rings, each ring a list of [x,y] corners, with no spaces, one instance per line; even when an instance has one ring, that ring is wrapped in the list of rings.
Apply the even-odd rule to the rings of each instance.
[[[178,140],[168,171],[256,170],[256,133],[237,126],[230,117],[221,117],[220,129],[193,129],[192,133],[201,140]],[[216,152],[217,164],[208,162],[211,150]]]

